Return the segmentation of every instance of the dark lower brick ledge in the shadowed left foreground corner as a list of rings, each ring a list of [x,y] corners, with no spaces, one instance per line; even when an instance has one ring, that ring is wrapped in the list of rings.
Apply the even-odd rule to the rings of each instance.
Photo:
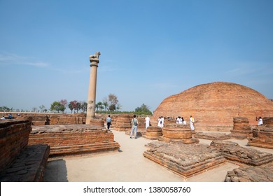
[[[22,150],[13,165],[1,172],[1,182],[41,182],[50,146],[31,145]]]

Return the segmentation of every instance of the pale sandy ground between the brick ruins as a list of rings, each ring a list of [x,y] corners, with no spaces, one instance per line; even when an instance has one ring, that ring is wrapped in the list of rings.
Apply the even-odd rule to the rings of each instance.
[[[93,155],[62,157],[48,160],[45,168],[45,182],[223,182],[228,171],[239,167],[230,162],[209,169],[184,179],[169,169],[144,158],[147,150],[145,144],[149,139],[139,137],[130,139],[125,132],[112,130],[115,140],[120,144],[120,150]],[[247,139],[235,140],[240,146],[249,147]],[[211,141],[200,139],[200,144],[210,144]],[[255,148],[259,151],[273,153],[273,149]]]

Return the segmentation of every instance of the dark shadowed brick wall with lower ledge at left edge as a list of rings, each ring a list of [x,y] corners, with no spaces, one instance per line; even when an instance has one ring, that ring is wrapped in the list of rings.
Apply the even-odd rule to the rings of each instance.
[[[0,121],[0,181],[43,181],[50,146],[27,146],[28,120]]]

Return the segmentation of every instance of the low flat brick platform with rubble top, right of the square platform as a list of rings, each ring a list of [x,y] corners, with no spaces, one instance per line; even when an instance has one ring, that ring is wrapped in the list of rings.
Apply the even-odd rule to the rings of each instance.
[[[213,141],[211,147],[217,148],[226,159],[246,165],[264,165],[273,161],[273,155],[253,148],[244,148],[237,143],[228,141]]]

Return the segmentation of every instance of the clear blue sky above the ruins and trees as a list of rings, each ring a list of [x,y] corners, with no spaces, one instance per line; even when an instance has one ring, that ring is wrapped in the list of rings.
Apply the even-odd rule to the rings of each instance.
[[[122,111],[215,81],[273,99],[272,0],[0,0],[0,106],[97,102]]]

